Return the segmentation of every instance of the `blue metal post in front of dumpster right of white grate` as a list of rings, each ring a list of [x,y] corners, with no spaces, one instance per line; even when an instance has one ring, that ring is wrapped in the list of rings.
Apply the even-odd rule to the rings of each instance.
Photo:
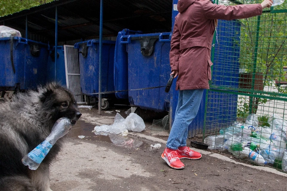
[[[103,0],[101,0],[100,4],[100,50],[99,50],[99,114],[102,114],[102,49],[103,49]]]

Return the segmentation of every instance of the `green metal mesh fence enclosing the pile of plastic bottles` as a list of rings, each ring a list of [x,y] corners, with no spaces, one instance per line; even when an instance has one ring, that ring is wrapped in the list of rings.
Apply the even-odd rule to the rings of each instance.
[[[287,171],[287,2],[237,23],[237,29],[218,26],[214,37],[204,142],[209,149]]]

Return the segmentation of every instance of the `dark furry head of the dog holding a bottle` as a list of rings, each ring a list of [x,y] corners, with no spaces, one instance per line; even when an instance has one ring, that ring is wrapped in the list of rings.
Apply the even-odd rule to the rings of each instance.
[[[82,115],[77,108],[74,94],[59,84],[47,84],[40,92],[39,99],[42,111],[53,120],[67,117],[75,124]]]

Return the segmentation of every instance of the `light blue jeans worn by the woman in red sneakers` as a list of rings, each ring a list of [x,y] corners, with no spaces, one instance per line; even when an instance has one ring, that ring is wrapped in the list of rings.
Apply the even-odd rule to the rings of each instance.
[[[204,89],[179,90],[175,118],[167,139],[167,147],[177,150],[186,146],[188,126],[196,117]]]

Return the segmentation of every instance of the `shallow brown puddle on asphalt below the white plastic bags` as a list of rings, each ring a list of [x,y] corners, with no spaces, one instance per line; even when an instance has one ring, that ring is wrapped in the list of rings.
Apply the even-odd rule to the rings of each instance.
[[[117,146],[122,146],[126,148],[138,148],[144,145],[143,141],[137,140],[135,138],[130,138],[128,136],[118,136],[118,135],[95,135],[92,130],[94,130],[95,125],[86,123],[85,121],[78,120],[72,129],[67,134],[68,137],[76,137],[79,135],[85,136],[84,139],[92,141],[106,141],[113,143]]]

